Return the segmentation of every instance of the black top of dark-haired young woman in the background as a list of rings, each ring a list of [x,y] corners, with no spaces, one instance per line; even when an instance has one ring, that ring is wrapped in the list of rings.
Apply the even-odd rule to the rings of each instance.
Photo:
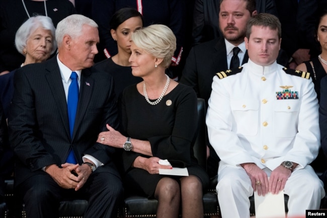
[[[132,75],[132,68],[130,66],[121,66],[116,64],[112,58],[105,59],[94,65],[98,70],[109,72],[114,78],[115,94],[117,97],[123,90],[130,85],[137,84],[142,81],[140,77]]]

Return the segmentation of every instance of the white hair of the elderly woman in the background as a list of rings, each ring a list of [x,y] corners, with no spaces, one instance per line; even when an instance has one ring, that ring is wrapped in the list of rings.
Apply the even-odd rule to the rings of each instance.
[[[52,50],[51,54],[57,49],[57,43],[55,40],[55,31],[51,18],[45,16],[35,16],[25,21],[22,26],[17,30],[15,36],[15,46],[19,53],[24,54],[23,50],[26,48],[27,40],[31,34],[38,28],[44,30],[50,30],[52,35]]]

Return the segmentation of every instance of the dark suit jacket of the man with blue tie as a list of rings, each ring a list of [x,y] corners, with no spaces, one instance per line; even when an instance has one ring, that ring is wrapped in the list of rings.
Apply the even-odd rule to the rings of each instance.
[[[14,97],[9,114],[9,134],[17,156],[16,182],[45,173],[45,166],[65,163],[72,148],[79,164],[85,154],[105,166],[96,172],[114,169],[114,148],[96,143],[106,123],[118,127],[112,77],[91,67],[82,70],[79,100],[72,139],[67,102],[56,56],[43,63],[28,64],[16,71]]]

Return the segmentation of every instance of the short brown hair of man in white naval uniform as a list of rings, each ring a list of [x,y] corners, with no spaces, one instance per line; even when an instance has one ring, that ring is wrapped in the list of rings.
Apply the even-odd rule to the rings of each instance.
[[[278,39],[282,37],[282,28],[279,22],[279,19],[272,14],[267,13],[260,13],[248,21],[247,24],[247,38],[250,39],[251,35],[251,28],[253,26],[262,26],[262,27],[269,27],[271,30],[277,30],[278,32]]]

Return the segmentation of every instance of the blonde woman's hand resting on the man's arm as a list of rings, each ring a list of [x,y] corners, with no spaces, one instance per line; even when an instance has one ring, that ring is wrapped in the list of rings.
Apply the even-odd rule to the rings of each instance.
[[[100,132],[97,142],[122,149],[127,137],[122,135],[119,131],[116,131],[109,124],[107,124],[107,129],[109,131]]]

